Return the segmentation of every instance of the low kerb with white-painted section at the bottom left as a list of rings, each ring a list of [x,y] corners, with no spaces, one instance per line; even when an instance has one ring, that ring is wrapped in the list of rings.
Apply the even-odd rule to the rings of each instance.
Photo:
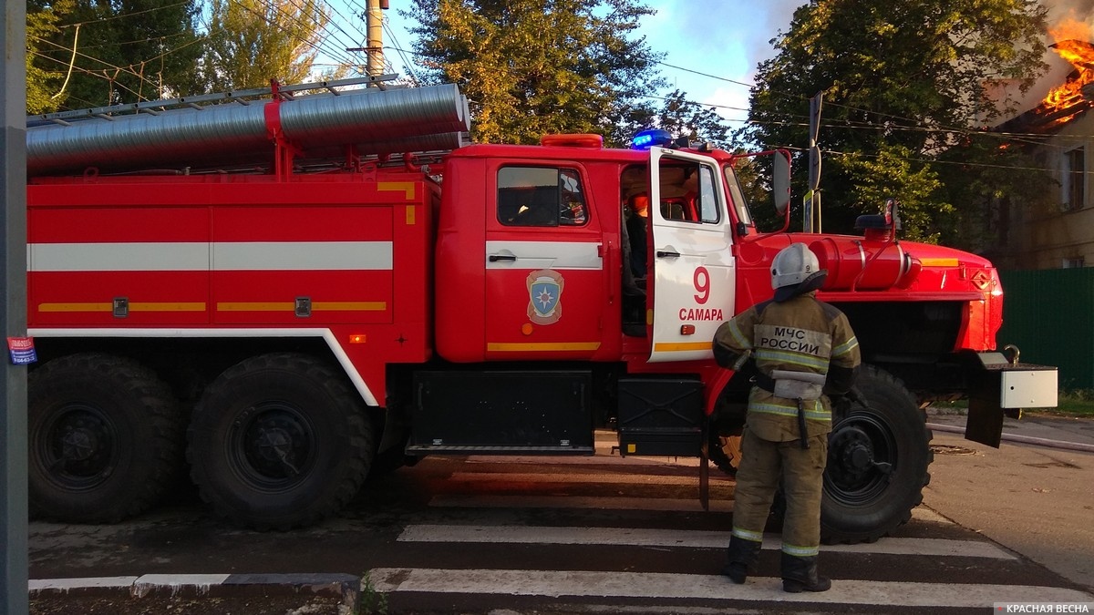
[[[30,596],[129,595],[146,596],[272,596],[309,594],[339,597],[353,606],[361,593],[361,579],[353,575],[143,575],[140,577],[89,577],[79,579],[31,579]]]

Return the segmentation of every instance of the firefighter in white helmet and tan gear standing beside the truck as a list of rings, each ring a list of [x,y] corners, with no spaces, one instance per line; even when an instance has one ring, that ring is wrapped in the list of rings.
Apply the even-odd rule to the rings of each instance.
[[[817,573],[829,396],[851,391],[860,353],[847,316],[815,298],[826,275],[805,244],[787,246],[771,266],[775,299],[749,308],[714,334],[721,367],[750,367],[756,373],[741,442],[729,561],[722,571],[735,583],[745,582],[759,555],[781,480],[787,500],[782,589],[823,592],[831,587]]]

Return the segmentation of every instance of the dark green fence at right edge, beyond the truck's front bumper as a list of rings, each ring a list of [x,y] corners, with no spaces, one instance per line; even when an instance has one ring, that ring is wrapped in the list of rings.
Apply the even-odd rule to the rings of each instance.
[[[1060,390],[1094,388],[1094,267],[1000,271],[1001,349],[1014,344],[1023,363],[1059,368]]]

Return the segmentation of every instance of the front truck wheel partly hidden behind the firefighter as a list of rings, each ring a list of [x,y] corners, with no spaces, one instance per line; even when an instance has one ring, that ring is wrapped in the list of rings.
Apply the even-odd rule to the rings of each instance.
[[[931,432],[916,398],[893,375],[863,365],[853,404],[833,417],[821,501],[825,544],[873,542],[911,518],[923,501],[934,459]]]

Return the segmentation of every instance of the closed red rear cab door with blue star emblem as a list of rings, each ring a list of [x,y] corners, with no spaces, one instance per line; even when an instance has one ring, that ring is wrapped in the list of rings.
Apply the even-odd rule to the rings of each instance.
[[[487,175],[486,360],[591,359],[608,283],[582,167],[499,161]]]

